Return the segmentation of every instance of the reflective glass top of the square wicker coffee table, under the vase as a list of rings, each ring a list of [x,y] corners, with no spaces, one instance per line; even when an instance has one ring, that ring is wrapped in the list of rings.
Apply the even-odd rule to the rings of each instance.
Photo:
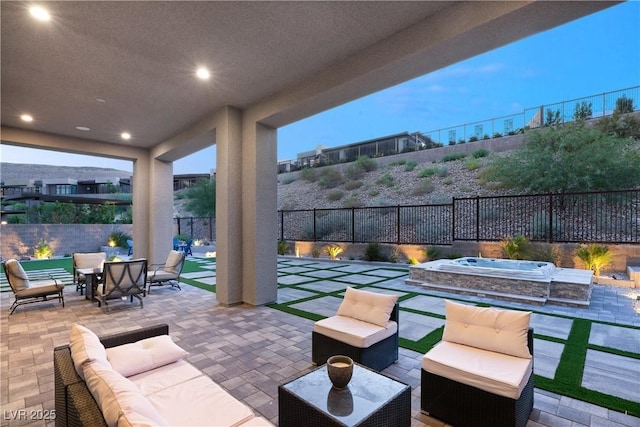
[[[282,386],[307,404],[346,425],[358,424],[409,386],[354,364],[353,376],[343,390],[333,388],[327,365]]]

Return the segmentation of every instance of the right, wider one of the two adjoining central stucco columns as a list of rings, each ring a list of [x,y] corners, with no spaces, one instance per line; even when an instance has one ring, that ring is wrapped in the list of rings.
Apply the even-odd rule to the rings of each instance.
[[[277,131],[243,120],[242,299],[274,302],[277,283]]]

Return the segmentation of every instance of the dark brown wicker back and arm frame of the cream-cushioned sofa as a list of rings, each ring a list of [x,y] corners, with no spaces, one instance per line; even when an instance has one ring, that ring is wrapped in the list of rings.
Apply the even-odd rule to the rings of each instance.
[[[105,348],[134,343],[158,335],[169,335],[169,325],[160,324],[131,332],[109,335],[100,339]],[[84,380],[78,375],[71,359],[69,345],[53,350],[55,381],[56,427],[106,426],[100,407]]]

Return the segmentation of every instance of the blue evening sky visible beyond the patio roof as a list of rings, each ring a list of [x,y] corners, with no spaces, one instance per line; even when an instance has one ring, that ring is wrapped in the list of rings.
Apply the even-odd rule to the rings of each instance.
[[[640,1],[630,1],[280,128],[278,159],[318,145],[428,132],[638,85]],[[131,170],[130,162],[25,150],[3,145],[0,158]],[[215,146],[174,163],[176,174],[212,168]]]

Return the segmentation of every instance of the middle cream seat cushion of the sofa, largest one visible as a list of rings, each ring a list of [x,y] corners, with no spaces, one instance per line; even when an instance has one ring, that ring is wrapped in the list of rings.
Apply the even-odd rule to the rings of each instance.
[[[237,426],[253,411],[207,376],[176,384],[147,399],[172,426]]]

